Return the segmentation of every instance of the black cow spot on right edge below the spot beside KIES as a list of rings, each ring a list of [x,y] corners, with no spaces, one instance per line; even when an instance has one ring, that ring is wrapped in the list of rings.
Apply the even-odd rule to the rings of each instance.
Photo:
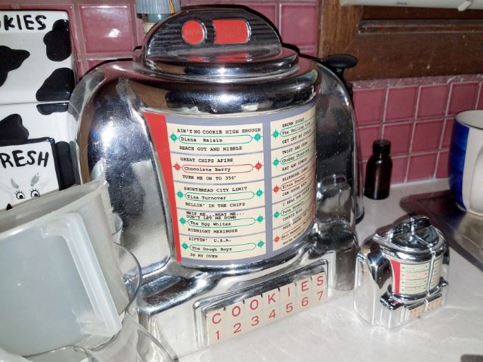
[[[37,101],[68,101],[74,85],[72,69],[58,68],[43,82],[35,98]]]

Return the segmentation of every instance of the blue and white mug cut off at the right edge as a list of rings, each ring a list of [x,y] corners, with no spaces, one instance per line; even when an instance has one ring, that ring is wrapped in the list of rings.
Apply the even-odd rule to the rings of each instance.
[[[449,152],[449,177],[457,205],[483,216],[483,110],[456,114]]]

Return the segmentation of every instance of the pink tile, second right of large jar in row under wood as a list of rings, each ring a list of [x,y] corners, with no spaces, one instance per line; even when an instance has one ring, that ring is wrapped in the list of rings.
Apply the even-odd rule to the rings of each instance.
[[[417,87],[390,88],[387,94],[386,121],[414,117]]]

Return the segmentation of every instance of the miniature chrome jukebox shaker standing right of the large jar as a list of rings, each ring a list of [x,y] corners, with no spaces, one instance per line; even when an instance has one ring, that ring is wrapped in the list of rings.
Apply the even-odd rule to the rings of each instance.
[[[449,247],[424,216],[380,228],[357,255],[354,308],[394,328],[444,304]]]

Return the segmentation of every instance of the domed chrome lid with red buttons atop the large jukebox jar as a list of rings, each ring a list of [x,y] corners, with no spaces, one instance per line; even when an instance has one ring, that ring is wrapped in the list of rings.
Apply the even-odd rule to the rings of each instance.
[[[286,76],[299,68],[297,53],[282,47],[273,26],[243,8],[175,14],[146,35],[142,60],[164,77],[216,83]]]

